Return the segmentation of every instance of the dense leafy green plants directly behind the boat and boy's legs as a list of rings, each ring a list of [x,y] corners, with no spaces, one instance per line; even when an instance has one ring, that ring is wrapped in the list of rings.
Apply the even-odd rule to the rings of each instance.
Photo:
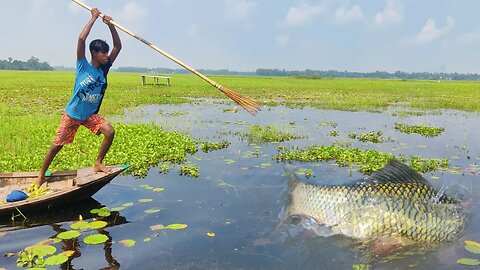
[[[57,122],[58,119],[50,121],[50,123],[38,123],[38,126],[34,124],[30,127],[27,126],[26,129],[30,132],[28,132],[28,138],[24,139],[29,142],[28,144],[17,144],[15,143],[16,139],[13,141],[8,139],[7,146],[0,145],[2,150],[1,170],[5,172],[38,171],[55,136]],[[1,126],[2,124],[0,124]],[[198,151],[196,140],[178,132],[164,132],[156,125],[115,123],[113,126],[115,139],[105,162],[107,164],[132,164],[129,171],[137,177],[144,177],[151,166],[158,165],[160,162],[183,163],[187,160],[188,154]],[[18,129],[21,128],[18,127]],[[7,139],[2,140],[1,135],[0,131],[0,142],[6,142]],[[13,136],[13,138],[15,137],[17,135]],[[102,139],[103,136],[95,136],[87,129],[80,128],[74,143],[66,145],[59,152],[50,169],[53,171],[72,170],[92,166]]]

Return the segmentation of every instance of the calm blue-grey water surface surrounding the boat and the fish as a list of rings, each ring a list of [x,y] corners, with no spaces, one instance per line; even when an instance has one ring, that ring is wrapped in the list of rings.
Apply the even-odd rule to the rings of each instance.
[[[178,175],[176,168],[168,174],[151,168],[144,179],[118,176],[93,199],[82,201],[66,209],[29,215],[29,220],[3,220],[0,231],[0,254],[18,252],[28,245],[54,237],[69,230],[72,221],[82,215],[91,220],[90,209],[113,208],[127,202],[133,206],[113,212],[105,220],[109,225],[101,230],[84,232],[78,241],[54,244],[59,252],[74,249],[74,258],[61,266],[48,269],[452,269],[461,268],[456,261],[478,255],[464,249],[464,240],[480,241],[479,186],[480,175],[480,116],[458,111],[427,112],[421,116],[398,116],[399,108],[382,113],[343,112],[310,108],[289,109],[266,107],[256,117],[232,109],[215,100],[186,105],[150,105],[132,109],[122,117],[110,117],[122,122],[155,122],[169,131],[182,131],[205,141],[228,140],[231,145],[222,150],[189,157],[189,162],[200,169],[196,179]],[[180,113],[182,112],[182,113]],[[332,137],[335,122],[340,135]],[[425,138],[418,134],[403,134],[394,129],[395,123],[444,127],[442,135]],[[286,204],[290,170],[310,169],[318,183],[342,183],[364,177],[348,168],[333,166],[331,162],[277,163],[272,156],[279,144],[250,145],[236,133],[248,131],[250,125],[274,125],[306,138],[282,143],[308,147],[312,144],[331,145],[333,142],[351,142],[352,147],[393,152],[395,155],[417,155],[425,158],[449,158],[450,167],[463,173],[437,171],[425,174],[437,189],[461,195],[468,200],[469,222],[462,236],[452,242],[422,253],[386,262],[370,263],[350,239],[342,236],[319,237],[301,231],[291,223],[281,223]],[[361,143],[348,134],[382,131],[389,138],[380,144]],[[256,150],[258,157],[252,156]],[[438,179],[437,179],[438,178]],[[142,185],[165,188],[162,192],[148,190]],[[153,199],[141,203],[139,199]],[[160,209],[147,214],[147,209]],[[187,224],[176,231],[152,231],[157,224]],[[299,231],[300,230],[300,231]],[[82,239],[93,233],[106,234],[113,242],[86,245]],[[215,235],[210,236],[209,233]],[[150,241],[144,242],[146,238]],[[136,241],[125,247],[119,242]],[[0,268],[16,268],[16,256],[0,257]]]

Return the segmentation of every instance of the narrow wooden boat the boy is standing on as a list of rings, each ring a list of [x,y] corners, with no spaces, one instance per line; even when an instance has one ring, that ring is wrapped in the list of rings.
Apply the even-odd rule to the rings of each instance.
[[[47,177],[48,188],[45,195],[17,202],[6,202],[12,190],[27,190],[38,177],[38,173],[0,173],[0,216],[47,210],[53,206],[65,205],[91,197],[130,165],[108,166],[109,173],[93,172],[91,167],[72,171],[54,172]],[[17,210],[18,209],[18,210]]]

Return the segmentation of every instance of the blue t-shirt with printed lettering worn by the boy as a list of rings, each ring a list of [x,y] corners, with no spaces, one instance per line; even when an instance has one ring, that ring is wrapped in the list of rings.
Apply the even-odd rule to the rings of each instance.
[[[68,116],[83,121],[98,113],[107,89],[107,73],[111,66],[109,62],[96,69],[86,58],[77,61],[73,94],[65,108]]]

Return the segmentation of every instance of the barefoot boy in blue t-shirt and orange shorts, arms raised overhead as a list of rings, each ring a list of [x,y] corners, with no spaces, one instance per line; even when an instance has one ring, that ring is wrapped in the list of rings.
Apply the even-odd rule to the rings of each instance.
[[[63,145],[73,142],[75,133],[81,125],[90,129],[96,135],[100,135],[100,133],[104,135],[97,159],[93,165],[93,171],[105,173],[110,171],[103,165],[103,159],[112,145],[115,132],[110,123],[98,115],[98,111],[107,88],[108,71],[120,53],[122,43],[117,30],[110,22],[112,18],[105,15],[103,22],[112,34],[113,48],[109,54],[109,46],[105,41],[93,40],[89,46],[92,59],[88,63],[85,58],[85,40],[90,34],[93,24],[100,16],[100,11],[94,8],[91,14],[92,18],[78,38],[73,94],[63,113],[56,137],[43,160],[40,174],[35,182],[39,186],[45,182],[45,172],[52,160]]]

